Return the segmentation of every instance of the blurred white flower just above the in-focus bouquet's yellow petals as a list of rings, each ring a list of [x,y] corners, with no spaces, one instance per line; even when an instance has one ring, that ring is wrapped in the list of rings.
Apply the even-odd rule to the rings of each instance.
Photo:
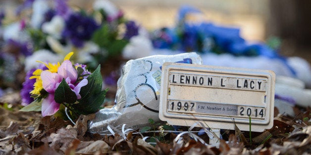
[[[36,62],[37,60],[42,62],[50,62],[50,63],[57,63],[62,61],[62,55],[53,54],[51,51],[46,49],[40,49],[31,56],[26,57],[25,59],[25,71],[29,71],[32,68],[37,68],[40,63]]]

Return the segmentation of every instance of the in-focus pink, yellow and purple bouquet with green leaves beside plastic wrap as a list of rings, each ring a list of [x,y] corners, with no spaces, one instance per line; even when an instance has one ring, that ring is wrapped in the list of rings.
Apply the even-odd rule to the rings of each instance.
[[[38,61],[44,66],[30,71],[32,76],[24,83],[23,104],[29,104],[26,103],[29,97],[33,102],[21,111],[41,111],[42,116],[50,116],[63,106],[71,115],[79,116],[99,110],[107,92],[107,89],[102,90],[100,66],[91,74],[86,65],[72,64],[69,60],[72,55],[73,52],[68,53],[62,63]],[[29,89],[26,85],[31,84],[33,88]],[[28,96],[27,91],[30,91]]]

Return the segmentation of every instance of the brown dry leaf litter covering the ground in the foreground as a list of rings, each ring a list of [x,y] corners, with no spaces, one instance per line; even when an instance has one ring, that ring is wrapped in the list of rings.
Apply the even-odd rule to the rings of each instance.
[[[95,115],[80,116],[74,125],[59,117],[42,117],[36,112],[19,112],[18,97],[0,100],[0,155],[310,155],[310,108],[295,107],[295,117],[278,114],[274,126],[264,132],[221,130],[219,146],[204,145],[185,134],[174,141],[175,133],[132,132],[126,135],[99,135],[87,132],[87,121]],[[151,128],[150,131],[154,130]],[[155,130],[160,130],[159,128]],[[188,131],[187,127],[179,130]],[[195,128],[198,131],[200,128]],[[193,131],[194,131],[193,130]],[[208,143],[207,134],[198,135]],[[156,140],[155,140],[156,138]],[[148,143],[149,142],[149,143]],[[151,142],[151,143],[150,143]]]

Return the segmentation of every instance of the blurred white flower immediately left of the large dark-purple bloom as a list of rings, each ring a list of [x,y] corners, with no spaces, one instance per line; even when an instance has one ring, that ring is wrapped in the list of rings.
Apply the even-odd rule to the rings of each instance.
[[[42,31],[55,39],[60,39],[64,26],[64,19],[61,16],[54,16],[51,22],[46,22],[42,25]]]

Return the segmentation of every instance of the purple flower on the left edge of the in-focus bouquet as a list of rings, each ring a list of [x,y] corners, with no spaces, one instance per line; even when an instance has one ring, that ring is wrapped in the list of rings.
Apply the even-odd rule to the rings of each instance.
[[[34,88],[36,79],[29,79],[34,71],[36,71],[36,69],[31,69],[28,71],[25,77],[25,82],[23,82],[23,88],[20,91],[20,96],[22,97],[22,106],[27,106],[34,101],[34,98],[30,97],[30,92]]]

